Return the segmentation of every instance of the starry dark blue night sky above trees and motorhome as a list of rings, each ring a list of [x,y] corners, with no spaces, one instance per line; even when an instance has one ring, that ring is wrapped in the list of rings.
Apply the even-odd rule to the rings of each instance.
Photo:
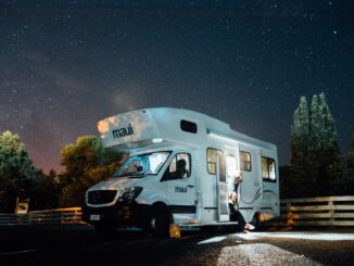
[[[37,167],[97,122],[190,109],[278,145],[301,96],[324,91],[341,151],[354,132],[354,1],[0,0],[0,131]]]

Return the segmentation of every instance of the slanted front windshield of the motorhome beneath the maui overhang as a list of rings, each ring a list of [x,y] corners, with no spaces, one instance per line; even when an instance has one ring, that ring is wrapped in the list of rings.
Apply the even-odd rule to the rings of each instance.
[[[170,152],[153,152],[130,156],[114,173],[113,177],[156,175],[169,154]]]

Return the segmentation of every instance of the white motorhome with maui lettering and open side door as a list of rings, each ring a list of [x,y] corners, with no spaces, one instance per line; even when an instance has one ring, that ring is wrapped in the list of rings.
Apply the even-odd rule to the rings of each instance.
[[[104,148],[129,154],[111,178],[86,193],[84,219],[98,231],[134,225],[165,235],[170,224],[237,224],[228,206],[237,173],[243,176],[238,204],[245,220],[260,225],[279,215],[271,143],[172,107],[118,114],[100,121],[98,129]]]

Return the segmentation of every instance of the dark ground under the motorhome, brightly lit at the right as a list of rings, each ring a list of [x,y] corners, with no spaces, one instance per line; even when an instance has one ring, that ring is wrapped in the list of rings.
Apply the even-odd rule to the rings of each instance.
[[[352,265],[354,233],[143,232],[97,236],[91,228],[0,227],[0,265]]]

